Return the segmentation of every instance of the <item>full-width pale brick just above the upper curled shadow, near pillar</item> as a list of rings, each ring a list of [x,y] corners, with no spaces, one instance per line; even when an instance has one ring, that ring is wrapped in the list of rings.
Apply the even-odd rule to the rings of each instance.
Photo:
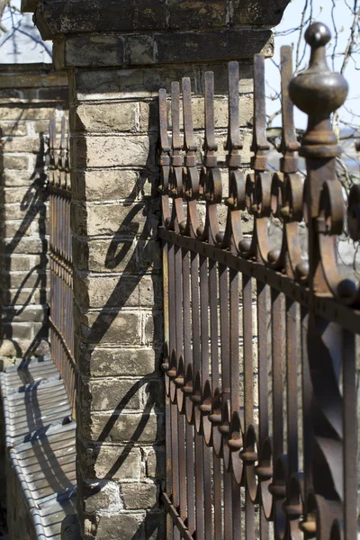
[[[145,135],[73,137],[72,165],[78,168],[155,165],[155,140]]]

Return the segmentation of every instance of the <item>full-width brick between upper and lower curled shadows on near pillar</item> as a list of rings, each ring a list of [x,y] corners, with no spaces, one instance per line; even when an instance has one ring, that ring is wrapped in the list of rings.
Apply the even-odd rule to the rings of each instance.
[[[80,374],[106,377],[131,374],[142,377],[158,370],[160,350],[153,348],[100,348],[86,347],[78,361]]]

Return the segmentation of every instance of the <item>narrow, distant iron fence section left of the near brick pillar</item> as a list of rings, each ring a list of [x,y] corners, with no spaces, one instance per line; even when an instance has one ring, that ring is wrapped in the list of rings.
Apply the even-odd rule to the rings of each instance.
[[[56,121],[49,122],[49,266],[51,356],[64,380],[71,405],[75,405],[76,367],[73,329],[73,267],[70,231],[69,137],[61,120],[57,147]]]

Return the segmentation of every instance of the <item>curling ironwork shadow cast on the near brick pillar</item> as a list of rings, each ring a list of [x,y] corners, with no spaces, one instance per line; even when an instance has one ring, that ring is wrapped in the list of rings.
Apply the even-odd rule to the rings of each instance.
[[[157,112],[155,112],[157,114]],[[158,266],[160,246],[154,249],[153,240],[157,240],[157,226],[160,219],[160,198],[158,196],[157,185],[159,178],[159,170],[156,166],[157,152],[157,133],[148,126],[148,137],[150,139],[150,150],[146,165],[139,173],[138,183],[131,187],[127,193],[123,206],[128,209],[125,218],[119,223],[118,229],[112,234],[109,247],[106,250],[103,258],[103,268],[106,271],[121,273],[119,280],[113,287],[112,293],[107,296],[107,301],[100,311],[96,312],[96,317],[91,325],[86,329],[86,342],[91,344],[90,347],[97,347],[102,342],[106,342],[106,334],[112,327],[112,324],[117,319],[124,308],[131,305],[131,296],[136,293],[141,280],[145,275],[149,275],[151,283],[149,287],[153,287],[157,298],[161,294],[159,287],[160,267],[157,272],[152,272],[154,266]],[[119,170],[121,175],[121,170]],[[150,186],[150,188],[149,188]],[[149,188],[149,189],[148,189]],[[76,188],[78,189],[78,187]],[[148,194],[146,192],[149,192]],[[141,215],[139,219],[139,214]],[[141,224],[140,224],[141,223]],[[129,231],[131,231],[129,233]],[[148,242],[148,240],[151,240]],[[126,265],[124,266],[124,261]],[[118,270],[121,268],[121,270]],[[106,276],[103,274],[103,276]],[[139,298],[139,306],[141,298]],[[160,305],[161,302],[160,302]],[[139,306],[134,307],[134,310],[139,310]],[[76,317],[76,315],[75,315]],[[79,318],[81,314],[79,313]],[[77,323],[81,324],[81,323]],[[96,437],[94,443],[88,441],[91,445],[91,462],[93,464],[93,478],[96,479],[95,464],[106,443],[116,439],[116,431],[121,416],[131,410],[131,401],[139,393],[143,396],[144,402],[141,405],[141,415],[133,415],[133,427],[129,427],[129,436],[126,436],[127,442],[121,443],[119,448],[119,456],[115,459],[112,465],[102,473],[101,480],[94,480],[94,484],[86,487],[78,488],[80,504],[84,499],[91,498],[96,493],[101,491],[103,484],[109,480],[116,478],[124,466],[126,460],[130,458],[130,453],[134,447],[139,446],[144,440],[144,445],[151,446],[152,443],[146,442],[152,439],[154,452],[157,454],[157,464],[154,481],[157,482],[158,490],[161,491],[161,482],[164,478],[165,465],[161,463],[161,459],[165,456],[163,445],[165,442],[164,433],[164,418],[163,418],[163,400],[165,392],[162,388],[162,379],[160,378],[160,350],[162,347],[162,316],[158,307],[153,306],[149,320],[146,323],[148,345],[144,347],[152,347],[156,357],[155,370],[152,373],[139,377],[139,379],[130,386],[129,390],[121,395],[118,403],[112,407],[112,414],[109,415],[105,425],[101,429],[100,434]],[[76,331],[79,330],[79,326]],[[120,337],[121,340],[121,337]],[[137,344],[134,344],[137,345]],[[121,347],[121,346],[119,346]],[[130,346],[129,346],[130,347]],[[131,375],[129,373],[129,375]],[[81,399],[81,398],[80,398]],[[87,403],[86,403],[87,405]],[[81,401],[83,410],[85,399]],[[89,406],[90,407],[90,406]],[[84,412],[84,410],[83,410]],[[90,421],[91,410],[87,411],[87,418]],[[148,430],[152,428],[155,418],[154,432],[151,437],[148,436]],[[149,421],[151,420],[151,427]],[[104,449],[104,448],[103,448]],[[83,447],[80,452],[85,455],[86,448]],[[87,462],[87,459],[86,459]],[[88,464],[88,462],[87,462]],[[85,490],[85,492],[83,491]],[[141,511],[139,509],[139,511]],[[134,531],[133,540],[137,538],[158,538],[164,537],[163,524],[159,520],[159,512],[162,512],[158,503],[147,509],[146,517],[139,524],[137,531]],[[86,514],[86,518],[92,518]],[[155,536],[157,531],[157,536]]]

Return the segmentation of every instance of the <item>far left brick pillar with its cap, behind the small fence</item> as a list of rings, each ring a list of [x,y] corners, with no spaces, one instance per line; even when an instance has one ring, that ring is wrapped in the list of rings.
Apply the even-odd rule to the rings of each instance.
[[[48,204],[45,139],[67,111],[67,74],[0,66],[0,356],[47,352]]]

